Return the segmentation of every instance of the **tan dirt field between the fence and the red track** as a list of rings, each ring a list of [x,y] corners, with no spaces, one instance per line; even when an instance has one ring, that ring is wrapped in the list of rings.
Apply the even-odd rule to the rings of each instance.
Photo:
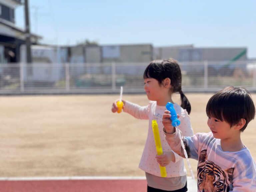
[[[205,107],[212,94],[186,96],[194,133],[209,132]],[[0,97],[0,177],[144,176],[138,168],[148,121],[113,114],[119,95]],[[256,94],[252,94],[254,102]],[[123,99],[146,105],[145,94]],[[175,97],[176,102],[179,101]],[[242,133],[256,159],[256,120]],[[196,175],[197,162],[190,160]],[[190,171],[185,161],[188,175]]]

